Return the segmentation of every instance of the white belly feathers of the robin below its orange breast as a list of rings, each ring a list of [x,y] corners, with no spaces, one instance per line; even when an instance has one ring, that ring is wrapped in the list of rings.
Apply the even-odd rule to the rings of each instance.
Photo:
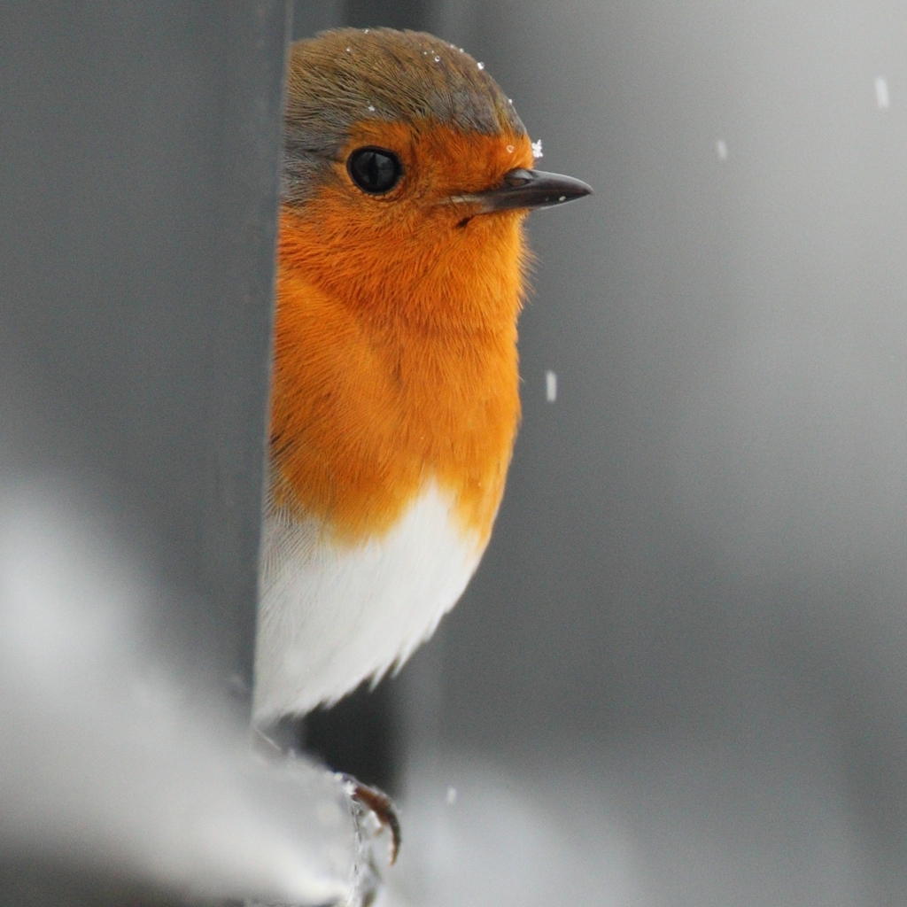
[[[254,712],[259,725],[331,703],[403,664],[460,598],[483,546],[426,486],[383,537],[350,546],[268,508]]]

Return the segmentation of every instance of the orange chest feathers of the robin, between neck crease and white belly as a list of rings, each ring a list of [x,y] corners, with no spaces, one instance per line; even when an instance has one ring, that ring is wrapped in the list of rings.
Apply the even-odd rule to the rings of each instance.
[[[515,305],[485,330],[375,324],[280,268],[275,502],[361,541],[434,479],[463,530],[487,540],[520,414]]]

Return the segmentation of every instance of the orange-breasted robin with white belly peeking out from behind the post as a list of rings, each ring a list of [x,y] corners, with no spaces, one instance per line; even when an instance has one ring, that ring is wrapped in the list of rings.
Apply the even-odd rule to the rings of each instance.
[[[399,669],[491,536],[520,421],[534,169],[483,63],[430,34],[292,44],[253,720]]]

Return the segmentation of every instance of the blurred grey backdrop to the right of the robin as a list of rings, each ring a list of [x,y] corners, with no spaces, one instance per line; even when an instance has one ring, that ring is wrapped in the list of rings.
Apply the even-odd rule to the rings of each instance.
[[[619,826],[600,902],[903,903],[902,8],[385,21],[463,44],[540,166],[597,190],[530,220],[522,432],[482,567],[399,678],[411,760],[503,766],[590,860]]]

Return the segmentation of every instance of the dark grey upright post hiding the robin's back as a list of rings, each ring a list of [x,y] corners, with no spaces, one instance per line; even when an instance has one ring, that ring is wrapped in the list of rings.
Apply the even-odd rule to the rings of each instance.
[[[87,487],[178,593],[166,641],[246,703],[288,12],[0,12],[0,478]],[[0,902],[73,902],[54,872]]]

